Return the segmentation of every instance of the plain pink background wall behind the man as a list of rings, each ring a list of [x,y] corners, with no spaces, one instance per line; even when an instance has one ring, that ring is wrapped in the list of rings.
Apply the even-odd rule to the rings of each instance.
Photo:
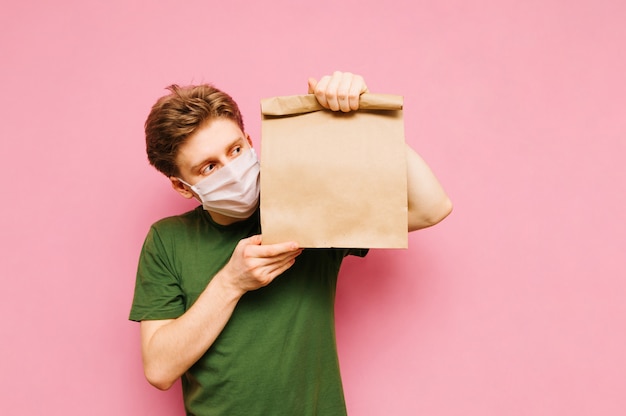
[[[453,214],[350,259],[351,415],[626,409],[620,0],[22,1],[0,13],[0,414],[182,415],[128,322],[149,225],[192,205],[146,162],[170,83],[259,100],[361,73],[405,96]]]

